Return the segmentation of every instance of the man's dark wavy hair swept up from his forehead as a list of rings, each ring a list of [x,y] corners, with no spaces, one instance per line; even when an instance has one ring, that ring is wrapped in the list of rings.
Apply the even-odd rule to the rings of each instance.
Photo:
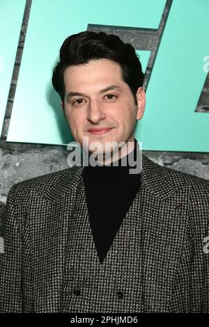
[[[65,97],[65,69],[71,65],[81,65],[102,58],[120,65],[122,79],[130,87],[137,104],[137,89],[144,83],[144,72],[138,54],[132,45],[124,43],[117,35],[93,31],[70,35],[61,46],[60,61],[53,69],[52,84],[62,101]]]

